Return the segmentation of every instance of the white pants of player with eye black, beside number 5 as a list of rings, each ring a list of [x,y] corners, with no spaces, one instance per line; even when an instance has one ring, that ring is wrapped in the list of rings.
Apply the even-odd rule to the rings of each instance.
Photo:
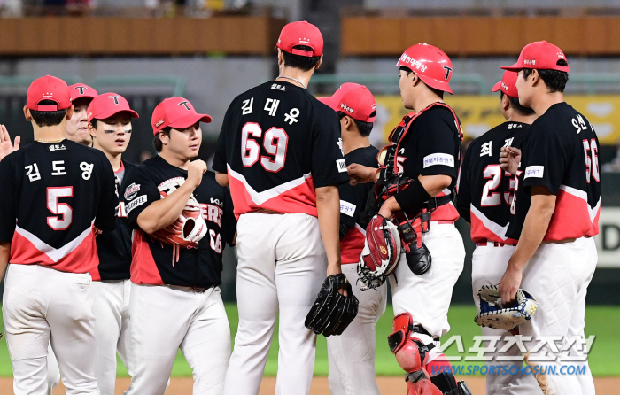
[[[95,376],[101,395],[113,395],[116,383],[116,352],[133,376],[129,321],[129,280],[95,281],[91,285],[97,357]]]

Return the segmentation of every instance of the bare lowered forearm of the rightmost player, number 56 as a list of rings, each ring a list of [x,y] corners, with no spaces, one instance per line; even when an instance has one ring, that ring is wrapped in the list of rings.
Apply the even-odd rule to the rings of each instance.
[[[555,210],[554,195],[534,195],[525,217],[515,252],[508,261],[508,270],[521,271],[539,248]]]

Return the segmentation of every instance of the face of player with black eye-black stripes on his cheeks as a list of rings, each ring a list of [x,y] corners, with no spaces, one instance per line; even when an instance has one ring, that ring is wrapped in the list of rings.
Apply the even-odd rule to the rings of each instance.
[[[119,112],[108,119],[99,120],[97,128],[89,124],[89,131],[95,148],[116,156],[127,150],[131,138],[131,117],[127,112]]]

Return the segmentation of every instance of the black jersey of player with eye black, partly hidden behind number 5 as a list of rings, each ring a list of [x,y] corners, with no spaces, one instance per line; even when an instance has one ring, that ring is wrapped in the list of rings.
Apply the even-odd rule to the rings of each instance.
[[[124,174],[135,165],[120,161],[120,169],[114,172],[116,181],[116,216],[114,230],[97,236],[99,266],[90,272],[93,280],[126,280],[131,267],[131,228],[127,223],[125,203],[120,199],[120,184]]]

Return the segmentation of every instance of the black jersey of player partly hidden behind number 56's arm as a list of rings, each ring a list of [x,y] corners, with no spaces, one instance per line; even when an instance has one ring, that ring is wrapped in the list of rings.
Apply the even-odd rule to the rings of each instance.
[[[521,148],[529,131],[527,123],[504,122],[474,140],[465,152],[456,208],[471,223],[474,242],[516,244],[506,236],[516,175],[501,169],[500,152],[502,147]]]

